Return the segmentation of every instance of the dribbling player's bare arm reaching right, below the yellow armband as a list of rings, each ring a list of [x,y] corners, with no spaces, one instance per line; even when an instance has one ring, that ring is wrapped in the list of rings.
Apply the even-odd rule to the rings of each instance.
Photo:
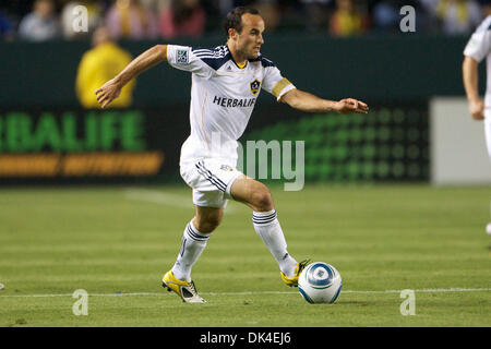
[[[368,113],[369,111],[366,103],[355,98],[345,98],[338,101],[328,100],[298,88],[285,93],[279,101],[286,103],[291,108],[310,112]]]

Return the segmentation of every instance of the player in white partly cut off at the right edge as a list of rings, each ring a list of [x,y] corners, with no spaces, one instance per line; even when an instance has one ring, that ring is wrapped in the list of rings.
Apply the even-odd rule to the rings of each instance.
[[[462,70],[469,112],[474,120],[483,120],[486,144],[491,159],[491,4],[490,1],[487,2],[483,5],[487,16],[472,34],[464,50],[465,58]],[[484,101],[482,101],[478,91],[478,64],[484,58],[488,79]],[[491,222],[488,224],[487,230],[490,226]]]

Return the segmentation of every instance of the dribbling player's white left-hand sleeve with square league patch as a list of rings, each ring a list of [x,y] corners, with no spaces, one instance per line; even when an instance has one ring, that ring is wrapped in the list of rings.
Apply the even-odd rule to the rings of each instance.
[[[167,61],[172,68],[203,77],[211,74],[211,68],[197,58],[192,48],[188,46],[167,45]]]

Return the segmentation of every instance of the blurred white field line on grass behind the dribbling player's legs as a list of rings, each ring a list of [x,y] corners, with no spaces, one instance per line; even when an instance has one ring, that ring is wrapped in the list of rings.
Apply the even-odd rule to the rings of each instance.
[[[129,188],[125,190],[125,197],[128,200],[143,201],[147,203],[154,203],[159,205],[168,205],[178,208],[191,208],[194,209],[192,196],[184,197],[181,195],[165,193],[157,190]],[[225,208],[227,213],[235,212],[233,207],[230,207],[230,201]]]

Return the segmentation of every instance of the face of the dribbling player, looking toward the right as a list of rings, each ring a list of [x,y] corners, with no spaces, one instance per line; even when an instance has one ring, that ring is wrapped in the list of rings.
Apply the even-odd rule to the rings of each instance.
[[[246,13],[242,15],[242,32],[237,35],[237,48],[248,58],[258,58],[261,45],[264,44],[264,21],[260,15]]]

